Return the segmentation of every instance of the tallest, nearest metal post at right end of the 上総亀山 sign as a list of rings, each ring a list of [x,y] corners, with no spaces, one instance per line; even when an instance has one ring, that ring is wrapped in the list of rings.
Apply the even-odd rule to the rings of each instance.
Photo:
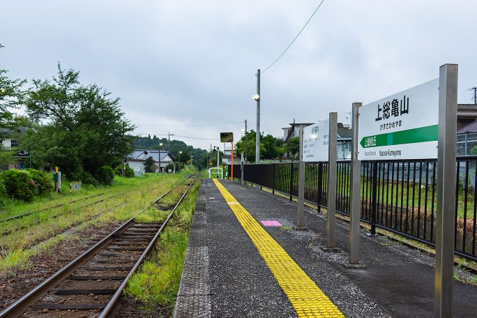
[[[457,73],[457,64],[444,64],[439,68],[436,272],[434,278],[434,316],[438,318],[452,317]]]

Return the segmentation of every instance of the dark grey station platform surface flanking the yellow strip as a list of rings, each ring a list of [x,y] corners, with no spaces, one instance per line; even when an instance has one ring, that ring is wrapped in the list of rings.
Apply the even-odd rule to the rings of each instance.
[[[367,269],[345,268],[346,222],[337,220],[342,252],[324,252],[323,215],[305,209],[308,231],[294,231],[293,202],[247,185],[220,183],[345,317],[434,317],[432,257],[363,232],[361,259]],[[296,299],[259,252],[256,240],[262,234],[252,241],[231,200],[211,179],[202,180],[174,317],[298,317]],[[277,222],[282,226],[273,226]],[[476,299],[477,287],[455,281],[454,317],[477,317]]]

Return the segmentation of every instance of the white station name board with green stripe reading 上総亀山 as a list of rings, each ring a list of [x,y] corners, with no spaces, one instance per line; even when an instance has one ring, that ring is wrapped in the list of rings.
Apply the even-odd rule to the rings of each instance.
[[[439,79],[359,109],[358,160],[437,158]]]

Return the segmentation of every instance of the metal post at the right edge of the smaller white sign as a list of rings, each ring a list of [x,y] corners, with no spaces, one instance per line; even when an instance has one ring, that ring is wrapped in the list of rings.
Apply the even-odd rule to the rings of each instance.
[[[338,135],[338,113],[331,112],[328,130],[328,220],[326,222],[326,249],[327,252],[339,251],[335,247],[335,210],[336,210],[336,136]]]

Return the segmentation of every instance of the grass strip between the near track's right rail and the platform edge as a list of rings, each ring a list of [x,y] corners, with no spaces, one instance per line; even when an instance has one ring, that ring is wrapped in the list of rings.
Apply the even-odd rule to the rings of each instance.
[[[197,179],[162,232],[156,250],[132,276],[125,289],[125,294],[142,303],[143,309],[148,313],[160,307],[165,309],[167,315],[172,316],[181,283],[182,266],[199,184]]]

